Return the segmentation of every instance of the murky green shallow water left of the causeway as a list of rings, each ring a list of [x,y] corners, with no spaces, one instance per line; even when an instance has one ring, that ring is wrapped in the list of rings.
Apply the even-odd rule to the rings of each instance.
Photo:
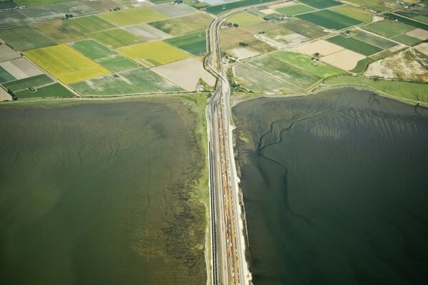
[[[0,284],[205,284],[200,125],[180,98],[2,107]]]

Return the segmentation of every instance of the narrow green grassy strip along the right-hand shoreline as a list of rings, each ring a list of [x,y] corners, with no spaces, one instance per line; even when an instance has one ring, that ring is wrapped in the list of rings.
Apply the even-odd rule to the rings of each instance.
[[[428,103],[428,84],[411,83],[404,81],[374,81],[370,78],[359,76],[340,76],[328,80],[326,83],[332,85],[357,85],[369,86],[382,93],[389,95]]]

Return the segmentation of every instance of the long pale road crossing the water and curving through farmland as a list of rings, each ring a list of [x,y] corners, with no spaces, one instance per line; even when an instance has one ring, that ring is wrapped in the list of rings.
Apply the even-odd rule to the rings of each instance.
[[[286,0],[287,1],[287,0]],[[289,0],[290,1],[290,0]],[[270,4],[285,1],[272,1]],[[208,68],[218,78],[218,87],[205,110],[208,131],[210,171],[210,215],[212,244],[212,283],[250,284],[251,274],[245,260],[245,236],[238,176],[233,154],[233,125],[230,122],[230,84],[220,51],[220,26],[228,16],[253,9],[240,7],[218,16],[209,28]]]

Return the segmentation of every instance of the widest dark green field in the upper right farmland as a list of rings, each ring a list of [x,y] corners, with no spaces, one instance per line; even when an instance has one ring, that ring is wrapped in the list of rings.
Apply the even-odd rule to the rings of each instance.
[[[334,28],[335,30],[341,30],[342,28],[349,28],[350,26],[362,24],[362,21],[357,21],[330,10],[321,10],[312,13],[301,14],[297,15],[297,17],[325,28]]]

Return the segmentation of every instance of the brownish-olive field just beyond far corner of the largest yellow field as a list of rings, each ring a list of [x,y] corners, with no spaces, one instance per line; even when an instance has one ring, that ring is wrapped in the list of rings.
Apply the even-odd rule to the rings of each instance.
[[[59,43],[71,43],[72,41],[81,41],[87,36],[77,28],[68,24],[68,21],[58,20],[46,23],[34,24],[34,28],[39,29],[46,35],[55,38]]]

